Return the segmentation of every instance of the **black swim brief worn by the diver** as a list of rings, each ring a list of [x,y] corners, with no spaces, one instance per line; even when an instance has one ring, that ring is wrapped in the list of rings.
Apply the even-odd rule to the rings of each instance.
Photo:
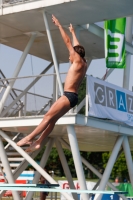
[[[78,103],[78,95],[74,92],[64,92],[64,95],[70,101],[70,107],[73,108]]]

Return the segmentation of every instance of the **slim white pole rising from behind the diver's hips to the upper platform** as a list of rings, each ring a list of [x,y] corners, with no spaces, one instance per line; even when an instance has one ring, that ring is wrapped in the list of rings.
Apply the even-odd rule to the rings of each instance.
[[[58,62],[57,62],[57,58],[56,58],[54,45],[53,45],[53,41],[52,41],[52,37],[51,37],[51,33],[50,33],[50,29],[49,29],[49,25],[48,25],[48,21],[47,21],[45,10],[43,11],[43,19],[44,19],[44,23],[45,23],[45,27],[46,27],[48,40],[49,40],[51,54],[52,54],[52,57],[53,57],[53,62],[54,62],[54,66],[55,66],[55,71],[56,71],[56,75],[57,75],[57,80],[58,80],[60,92],[61,92],[61,95],[63,95],[63,87],[62,87],[61,78],[60,78],[60,74],[59,74]]]

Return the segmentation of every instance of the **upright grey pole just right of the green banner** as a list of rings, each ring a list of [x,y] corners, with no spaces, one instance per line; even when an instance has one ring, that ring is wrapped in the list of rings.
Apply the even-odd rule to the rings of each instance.
[[[126,41],[132,44],[133,17],[126,18]],[[131,54],[126,56],[126,68],[123,74],[123,88],[129,89]]]

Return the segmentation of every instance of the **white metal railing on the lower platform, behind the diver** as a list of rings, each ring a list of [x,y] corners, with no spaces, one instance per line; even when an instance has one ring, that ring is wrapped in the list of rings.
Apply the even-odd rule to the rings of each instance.
[[[1,72],[1,71],[0,71]],[[64,75],[66,73],[60,73],[61,75]],[[0,73],[1,75],[1,73]],[[31,92],[31,88],[34,87],[34,83],[36,79],[41,78],[41,85],[39,87],[42,87],[42,84],[44,84],[44,81],[50,76],[55,76],[56,74],[40,74],[36,76],[25,76],[25,77],[17,77],[17,78],[6,78],[4,75],[1,75],[0,78],[0,99],[2,98],[2,95],[4,94],[8,83],[12,81],[12,79],[16,79],[16,85],[23,85],[24,82],[28,82],[31,80],[29,86],[26,87],[26,89],[18,89],[18,88],[12,88],[11,92],[8,96],[8,101],[6,102],[4,109],[0,115],[0,117],[17,117],[17,116],[33,116],[33,115],[44,115],[48,109],[51,107],[53,102],[56,100],[55,95],[53,94],[52,97],[44,96],[44,94],[36,94],[34,92]],[[45,78],[45,79],[44,79]],[[34,80],[33,80],[34,79]],[[6,83],[6,84],[5,84]],[[39,83],[36,82],[35,87],[38,87]],[[44,84],[46,85],[46,84]],[[47,88],[47,87],[46,87]],[[46,91],[46,88],[44,88],[44,92]],[[86,85],[87,88],[87,85]],[[53,89],[54,90],[54,89]],[[56,90],[56,88],[55,88]],[[57,91],[55,91],[57,92]],[[51,90],[51,93],[52,90]],[[14,96],[13,96],[14,95]],[[88,115],[88,96],[87,96],[87,90],[86,90],[86,96],[85,98],[80,102],[79,105],[72,108],[68,114],[70,113],[79,113],[80,110],[85,106],[85,116]],[[59,96],[59,94],[56,96]],[[20,113],[21,112],[21,113]]]

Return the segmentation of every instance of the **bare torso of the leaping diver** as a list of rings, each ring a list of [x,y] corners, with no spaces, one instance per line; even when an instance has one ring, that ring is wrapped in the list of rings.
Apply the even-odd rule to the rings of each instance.
[[[79,86],[85,77],[87,63],[80,57],[78,62],[73,62],[66,76],[64,91],[78,93]]]

